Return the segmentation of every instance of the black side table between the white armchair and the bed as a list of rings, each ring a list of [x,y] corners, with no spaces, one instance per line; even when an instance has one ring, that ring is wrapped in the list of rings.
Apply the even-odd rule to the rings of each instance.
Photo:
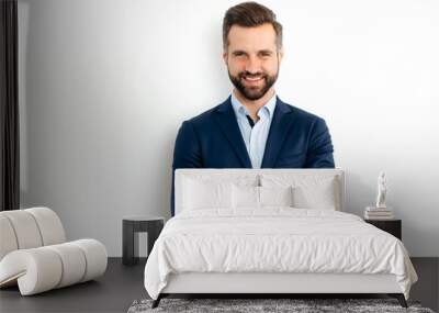
[[[148,256],[165,225],[164,217],[125,216],[122,220],[122,264],[138,262],[138,233],[148,233]]]

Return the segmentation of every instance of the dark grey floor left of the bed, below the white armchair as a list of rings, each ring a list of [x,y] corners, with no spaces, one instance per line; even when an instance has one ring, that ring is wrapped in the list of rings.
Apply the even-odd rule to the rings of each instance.
[[[143,284],[145,261],[123,266],[109,258],[104,276],[95,281],[21,297],[19,289],[0,290],[0,312],[126,312],[135,299],[147,298]]]

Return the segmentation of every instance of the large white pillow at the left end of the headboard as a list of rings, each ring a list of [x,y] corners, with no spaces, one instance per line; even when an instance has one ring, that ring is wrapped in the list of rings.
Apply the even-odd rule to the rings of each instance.
[[[184,179],[183,210],[232,208],[232,183]]]

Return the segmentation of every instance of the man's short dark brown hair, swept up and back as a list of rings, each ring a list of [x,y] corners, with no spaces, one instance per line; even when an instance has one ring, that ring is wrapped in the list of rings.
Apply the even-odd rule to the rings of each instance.
[[[275,32],[275,45],[282,47],[282,25],[275,20],[273,11],[257,2],[243,2],[229,8],[223,19],[223,47],[228,47],[228,33],[233,25],[243,27],[256,27],[264,23],[273,25]]]

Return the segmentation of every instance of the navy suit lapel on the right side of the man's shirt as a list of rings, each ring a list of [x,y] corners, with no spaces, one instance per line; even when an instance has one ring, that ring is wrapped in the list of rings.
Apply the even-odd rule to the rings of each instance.
[[[292,110],[277,97],[277,103],[271,121],[270,131],[263,152],[261,168],[272,168],[286,137],[288,131],[293,122]]]

